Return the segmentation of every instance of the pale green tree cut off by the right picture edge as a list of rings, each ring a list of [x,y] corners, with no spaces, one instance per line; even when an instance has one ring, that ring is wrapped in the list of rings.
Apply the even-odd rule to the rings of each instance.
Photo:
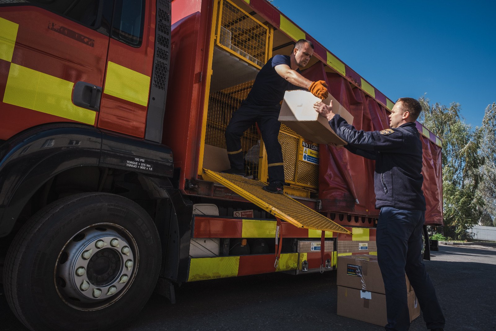
[[[484,158],[481,175],[484,180],[479,193],[486,204],[489,214],[496,215],[496,103],[490,104],[484,113],[482,126],[477,134],[481,141],[480,153]]]

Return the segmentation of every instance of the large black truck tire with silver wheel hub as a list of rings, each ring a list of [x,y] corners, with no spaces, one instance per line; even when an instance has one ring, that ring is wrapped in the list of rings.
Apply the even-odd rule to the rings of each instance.
[[[81,193],[36,213],[5,259],[4,291],[30,330],[119,330],[156,285],[160,238],[150,216],[115,194]]]

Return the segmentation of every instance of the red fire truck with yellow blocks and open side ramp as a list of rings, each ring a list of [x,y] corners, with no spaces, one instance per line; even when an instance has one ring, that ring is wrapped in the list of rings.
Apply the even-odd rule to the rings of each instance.
[[[253,126],[254,180],[220,172],[232,112],[302,38],[303,75],[358,129],[388,127],[393,101],[266,0],[2,0],[0,31],[0,261],[27,328],[116,329],[154,289],[376,253],[372,161],[282,126],[285,194],[266,193]],[[442,224],[441,142],[417,128]]]

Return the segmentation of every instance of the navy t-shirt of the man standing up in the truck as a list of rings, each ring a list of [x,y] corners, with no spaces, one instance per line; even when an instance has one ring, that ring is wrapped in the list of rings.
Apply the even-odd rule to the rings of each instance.
[[[275,55],[262,67],[256,75],[255,83],[248,93],[245,104],[253,106],[279,106],[284,97],[284,92],[291,89],[299,89],[296,85],[289,83],[274,69],[275,66],[285,64],[291,68],[291,57],[288,55]],[[298,73],[299,69],[296,70]]]

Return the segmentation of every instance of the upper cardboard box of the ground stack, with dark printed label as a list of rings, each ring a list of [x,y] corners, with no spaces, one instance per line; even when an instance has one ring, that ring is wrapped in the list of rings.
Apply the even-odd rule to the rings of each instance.
[[[337,280],[340,286],[385,294],[384,281],[376,255],[343,255],[338,257]],[[407,292],[412,291],[406,277]]]

